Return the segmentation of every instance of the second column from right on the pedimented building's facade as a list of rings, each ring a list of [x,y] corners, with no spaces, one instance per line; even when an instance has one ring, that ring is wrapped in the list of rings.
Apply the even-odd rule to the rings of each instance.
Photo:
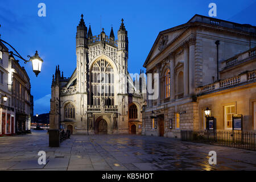
[[[183,84],[184,96],[188,96],[188,44],[184,43],[184,71],[183,71]]]

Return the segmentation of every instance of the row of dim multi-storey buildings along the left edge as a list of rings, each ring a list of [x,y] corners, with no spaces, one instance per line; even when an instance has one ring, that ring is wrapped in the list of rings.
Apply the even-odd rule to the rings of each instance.
[[[2,43],[0,46],[0,135],[25,133],[33,115],[30,78],[12,52]]]

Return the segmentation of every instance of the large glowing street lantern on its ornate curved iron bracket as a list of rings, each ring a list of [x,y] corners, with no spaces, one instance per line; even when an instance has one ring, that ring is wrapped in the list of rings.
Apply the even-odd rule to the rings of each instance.
[[[1,27],[1,24],[0,24],[0,27]],[[2,46],[1,43],[3,45],[7,44],[8,46],[10,46],[15,51],[15,53],[13,53],[13,51],[5,51],[3,49],[3,46]],[[32,62],[32,69],[33,69],[33,72],[35,73],[36,77],[41,72],[43,60],[39,57],[38,51],[36,51],[35,55],[32,56],[32,57],[30,55],[28,55],[27,57],[29,57],[30,59],[26,60],[22,56],[20,56],[20,54],[16,51],[16,49],[13,46],[11,46],[11,44],[5,42],[5,40],[0,39],[0,46],[1,46],[1,49],[0,49],[1,52],[7,52],[7,53],[10,53],[10,55],[14,55],[16,57],[19,57],[20,59],[22,59],[24,61],[25,64],[27,64],[28,62],[31,61]]]

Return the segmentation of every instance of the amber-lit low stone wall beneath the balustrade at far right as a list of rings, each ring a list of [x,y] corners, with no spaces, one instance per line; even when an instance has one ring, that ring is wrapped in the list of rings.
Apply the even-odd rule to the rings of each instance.
[[[234,105],[236,114],[243,115],[243,130],[255,131],[253,123],[253,102],[256,102],[256,83],[237,88],[222,90],[197,98],[199,102],[200,129],[204,129],[204,109],[211,109],[211,116],[216,118],[217,130],[225,130],[224,107]],[[255,114],[255,113],[254,113]]]

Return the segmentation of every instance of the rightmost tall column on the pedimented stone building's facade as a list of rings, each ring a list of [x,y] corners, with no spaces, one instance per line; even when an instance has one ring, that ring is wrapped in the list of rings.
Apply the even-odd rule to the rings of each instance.
[[[195,44],[196,38],[189,39],[189,94],[195,94]]]

